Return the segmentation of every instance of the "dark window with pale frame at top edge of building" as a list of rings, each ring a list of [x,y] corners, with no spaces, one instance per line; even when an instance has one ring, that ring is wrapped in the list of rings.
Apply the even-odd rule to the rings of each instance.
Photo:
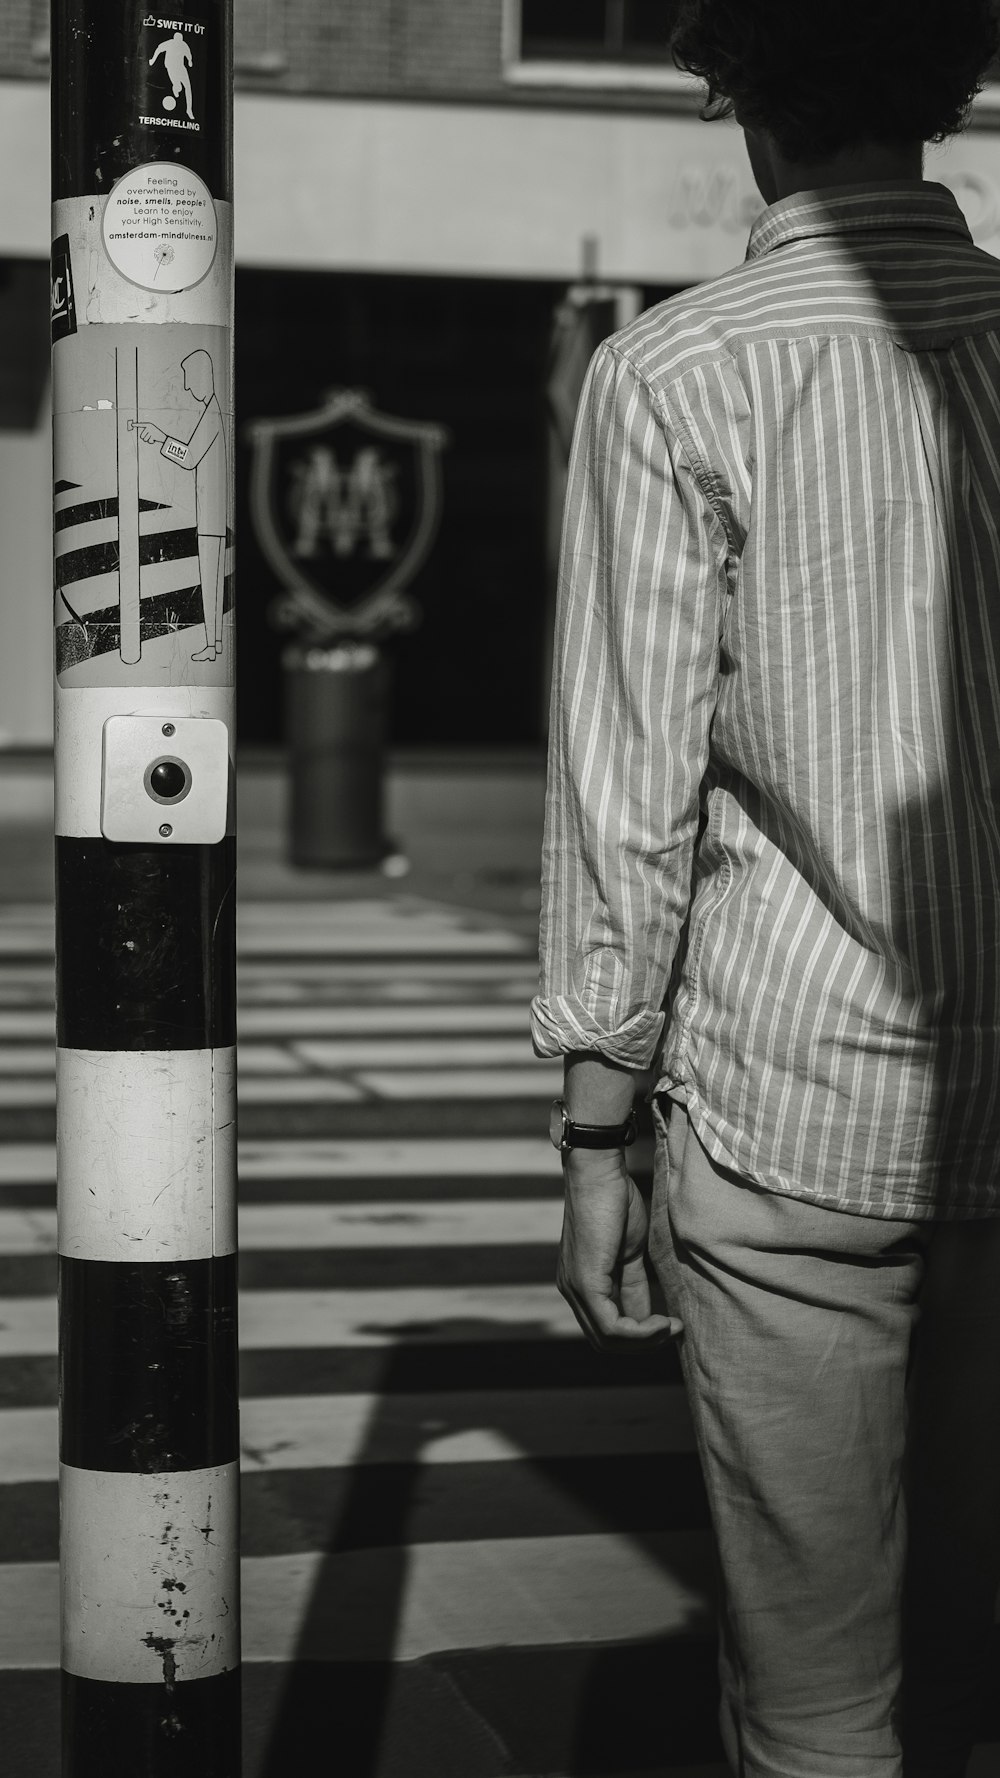
[[[525,62],[665,62],[680,0],[521,0]]]

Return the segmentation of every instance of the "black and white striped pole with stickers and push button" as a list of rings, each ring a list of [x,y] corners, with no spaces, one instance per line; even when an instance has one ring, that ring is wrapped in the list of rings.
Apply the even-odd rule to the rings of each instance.
[[[64,1778],[240,1771],[231,0],[53,0]]]

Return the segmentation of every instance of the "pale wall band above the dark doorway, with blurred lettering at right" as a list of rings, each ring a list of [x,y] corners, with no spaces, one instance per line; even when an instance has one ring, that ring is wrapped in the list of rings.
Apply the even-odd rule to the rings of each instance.
[[[760,210],[742,135],[694,116],[238,92],[237,260],[571,279],[582,240],[625,283],[692,283],[744,256]],[[0,80],[0,252],[48,254],[48,89]],[[929,149],[1000,254],[1000,132]]]

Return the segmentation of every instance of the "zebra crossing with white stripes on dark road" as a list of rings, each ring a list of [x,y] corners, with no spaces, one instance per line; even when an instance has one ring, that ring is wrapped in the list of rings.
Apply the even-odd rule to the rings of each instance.
[[[251,901],[238,958],[247,1778],[313,1769],[317,1735],[351,1778],[717,1778],[676,1353],[598,1357],[553,1287],[528,941],[404,898]],[[59,1769],[52,978],[52,910],[7,907],[7,1778]]]

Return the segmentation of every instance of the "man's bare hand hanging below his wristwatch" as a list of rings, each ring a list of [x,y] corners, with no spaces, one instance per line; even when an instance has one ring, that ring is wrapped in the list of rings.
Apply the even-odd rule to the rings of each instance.
[[[646,1275],[646,1204],[625,1149],[571,1149],[562,1157],[566,1207],[555,1282],[598,1351],[662,1346],[683,1323],[655,1316]]]

